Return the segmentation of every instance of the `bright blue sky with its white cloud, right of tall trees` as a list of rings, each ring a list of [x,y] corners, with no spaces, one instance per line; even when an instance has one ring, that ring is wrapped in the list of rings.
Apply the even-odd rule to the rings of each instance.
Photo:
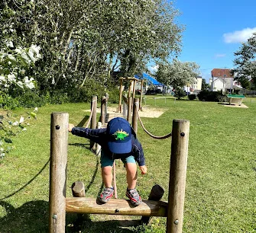
[[[196,62],[209,83],[211,70],[231,69],[234,53],[256,32],[256,0],[176,0],[181,15],[181,62]]]

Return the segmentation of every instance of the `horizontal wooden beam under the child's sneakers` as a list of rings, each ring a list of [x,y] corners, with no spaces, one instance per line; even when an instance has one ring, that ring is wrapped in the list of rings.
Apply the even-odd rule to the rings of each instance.
[[[111,199],[108,203],[98,203],[96,198],[66,198],[66,212],[105,214],[105,215],[141,215],[167,217],[168,203],[144,200],[140,206],[134,207],[130,200]]]

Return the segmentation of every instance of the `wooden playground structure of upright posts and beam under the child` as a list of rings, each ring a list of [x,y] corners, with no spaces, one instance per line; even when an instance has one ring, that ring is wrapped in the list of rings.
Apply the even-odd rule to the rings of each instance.
[[[134,102],[132,126],[134,131],[137,132],[139,99],[135,98],[132,101]],[[107,98],[102,97],[102,113],[100,117],[102,124],[105,123],[106,102]],[[96,104],[96,97],[92,97],[91,116],[89,119],[92,129],[96,129],[97,125]],[[126,199],[111,199],[109,203],[100,204],[96,198],[85,197],[83,184],[74,183],[74,197],[66,197],[68,123],[68,113],[51,113],[49,232],[65,232],[66,212],[105,215],[141,215],[142,222],[148,222],[151,216],[166,217],[167,233],[182,232],[190,121],[173,120],[168,202],[160,201],[164,190],[160,190],[159,186],[155,186],[151,190],[149,199],[143,200],[143,203],[137,207],[131,206],[129,200]],[[91,143],[91,147],[93,146],[95,145]]]

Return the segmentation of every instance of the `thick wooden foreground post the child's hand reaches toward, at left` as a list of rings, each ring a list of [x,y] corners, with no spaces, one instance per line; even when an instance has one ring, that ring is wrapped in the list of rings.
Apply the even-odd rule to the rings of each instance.
[[[68,113],[51,113],[49,232],[65,232]]]

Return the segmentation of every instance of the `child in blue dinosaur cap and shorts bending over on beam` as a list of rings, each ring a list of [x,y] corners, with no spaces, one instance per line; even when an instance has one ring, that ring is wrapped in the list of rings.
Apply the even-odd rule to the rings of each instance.
[[[100,162],[105,189],[99,196],[100,202],[107,203],[113,196],[112,166],[116,158],[121,158],[125,164],[128,183],[126,196],[131,200],[132,205],[139,206],[141,204],[141,196],[139,196],[136,190],[136,161],[138,162],[141,174],[147,173],[147,167],[145,166],[141,143],[136,138],[136,134],[128,121],[121,117],[115,117],[109,121],[106,129],[79,128],[69,124],[69,131],[73,135],[85,137],[102,146]]]

